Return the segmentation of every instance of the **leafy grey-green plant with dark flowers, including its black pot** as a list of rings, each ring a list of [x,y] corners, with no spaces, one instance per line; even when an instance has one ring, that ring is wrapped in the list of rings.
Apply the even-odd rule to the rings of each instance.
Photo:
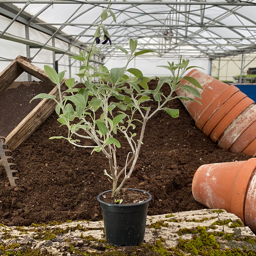
[[[104,174],[112,183],[112,189],[98,195],[106,239],[113,245],[134,245],[141,243],[144,239],[147,207],[152,196],[145,191],[122,188],[134,171],[143,145],[146,122],[160,110],[166,111],[171,117],[178,117],[179,110],[166,107],[166,104],[174,98],[197,101],[194,98],[172,96],[173,92],[181,87],[182,79],[195,85],[195,87],[183,85],[182,88],[197,98],[201,98],[201,95],[196,87],[203,88],[194,78],[184,76],[184,73],[193,67],[188,66],[189,61],[181,58],[178,64],[168,62],[167,66],[161,66],[170,70],[171,75],[160,77],[157,87],[149,89],[147,82],[150,79],[143,76],[139,69],[128,68],[128,64],[136,56],[154,51],[150,49],[137,51],[137,41],[132,38],[129,42],[129,51],[112,45],[127,56],[124,67],[108,70],[102,65],[99,65],[98,69],[89,65],[90,58],[101,52],[101,49],[95,45],[100,43],[101,33],[104,35],[102,44],[109,42],[108,47],[111,47],[110,34],[102,24],[108,14],[116,22],[115,14],[110,10],[110,2],[101,13],[101,23],[95,24],[96,32],[92,45],[83,52],[79,51],[79,55],[73,56],[73,59],[83,62],[79,73],[76,74],[83,79],[82,88],[77,88],[76,85],[81,83],[75,83],[74,78],[67,79],[65,84],[68,89],[65,92],[70,95],[61,97],[61,81],[65,72],[57,74],[54,69],[45,66],[44,69],[49,78],[59,88],[61,99],[57,101],[55,96],[48,94],[39,94],[33,99],[51,98],[57,103],[58,121],[67,127],[68,134],[50,139],[66,139],[74,146],[90,148],[92,154],[103,152],[108,159],[109,170],[104,170]],[[93,83],[92,80],[95,78],[98,82]],[[169,95],[161,91],[164,83],[170,85]],[[158,107],[153,111],[150,106],[144,105],[152,100],[158,102]],[[140,113],[140,120],[135,119],[135,112]],[[138,123],[142,124],[141,132],[135,134],[133,130]],[[116,158],[116,152],[121,149],[120,142],[116,139],[117,134],[122,134],[130,146],[130,152],[122,167],[118,166]],[[94,145],[88,145],[88,141],[92,141]],[[135,198],[128,201],[125,195]]]

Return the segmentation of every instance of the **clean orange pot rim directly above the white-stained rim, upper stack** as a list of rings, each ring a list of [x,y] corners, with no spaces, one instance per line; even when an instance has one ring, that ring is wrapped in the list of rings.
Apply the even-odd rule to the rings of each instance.
[[[254,101],[248,97],[242,99],[238,104],[236,104],[232,110],[226,114],[222,120],[216,125],[210,134],[210,138],[217,142],[219,137],[224,133],[228,126],[250,105],[254,104]]]

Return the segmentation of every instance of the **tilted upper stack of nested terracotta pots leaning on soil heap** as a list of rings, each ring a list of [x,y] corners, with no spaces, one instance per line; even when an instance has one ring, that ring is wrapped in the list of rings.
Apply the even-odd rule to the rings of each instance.
[[[221,148],[232,152],[256,154],[256,106],[234,85],[227,85],[196,69],[187,76],[195,78],[204,90],[199,89],[202,99],[179,89],[178,96],[187,96],[200,101],[182,100],[183,105],[195,120],[195,125],[218,142]],[[191,85],[182,80],[182,85]],[[194,86],[195,87],[195,86]],[[197,88],[198,89],[198,88]]]

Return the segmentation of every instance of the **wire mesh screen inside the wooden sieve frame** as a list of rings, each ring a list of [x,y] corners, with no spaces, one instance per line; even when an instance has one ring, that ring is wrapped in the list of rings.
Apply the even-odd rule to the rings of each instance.
[[[37,77],[23,72],[6,90],[0,92],[0,136],[7,137],[37,106],[41,99],[29,101],[53,89]]]

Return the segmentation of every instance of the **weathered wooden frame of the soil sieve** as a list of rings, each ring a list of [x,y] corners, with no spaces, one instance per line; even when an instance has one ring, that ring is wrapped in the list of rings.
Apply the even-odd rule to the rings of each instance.
[[[40,80],[52,85],[50,95],[55,95],[60,99],[57,85],[51,82],[44,70],[30,63],[31,61],[23,56],[18,56],[11,64],[0,73],[0,91],[7,89],[13,81],[24,71],[32,74]],[[64,78],[61,82],[63,90],[65,88]],[[6,143],[10,150],[20,146],[34,131],[44,122],[49,115],[55,110],[57,103],[52,99],[42,99],[40,103],[12,130],[6,137]]]

